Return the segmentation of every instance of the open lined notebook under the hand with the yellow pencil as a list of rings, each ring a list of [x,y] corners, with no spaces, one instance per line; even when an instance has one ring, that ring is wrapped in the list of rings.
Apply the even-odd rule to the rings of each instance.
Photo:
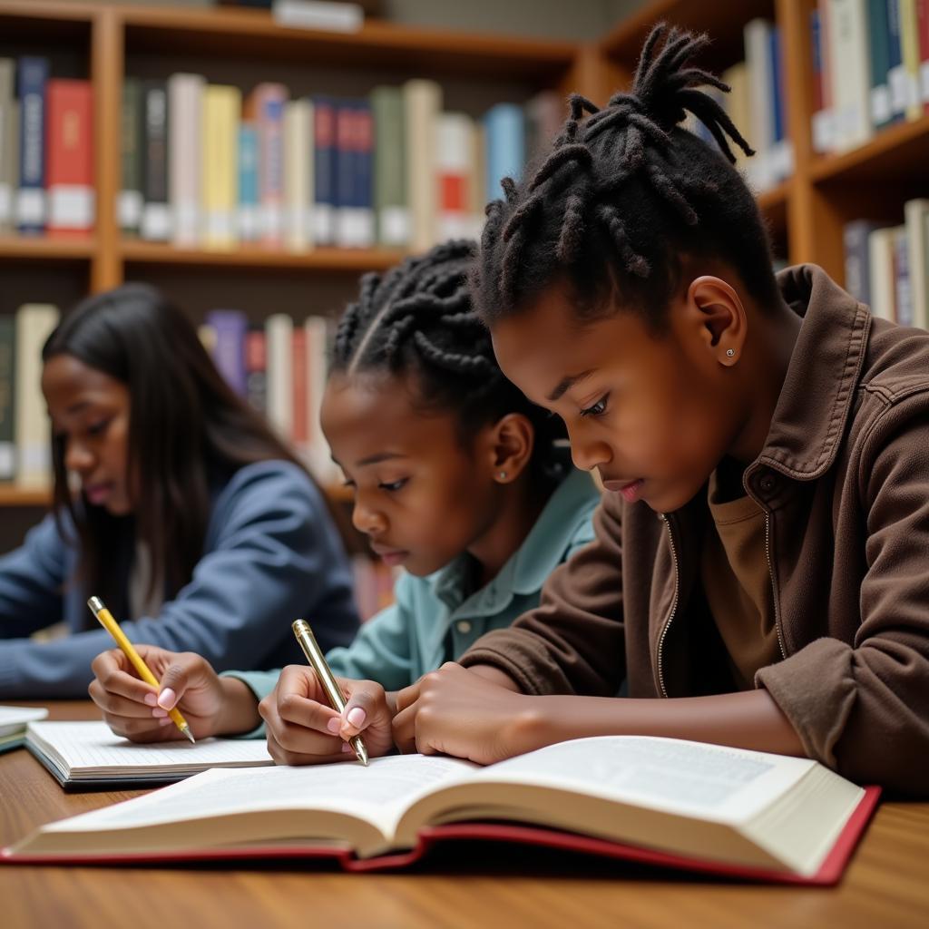
[[[30,723],[26,747],[66,790],[170,784],[211,767],[273,765],[264,739],[139,745],[106,723]]]

